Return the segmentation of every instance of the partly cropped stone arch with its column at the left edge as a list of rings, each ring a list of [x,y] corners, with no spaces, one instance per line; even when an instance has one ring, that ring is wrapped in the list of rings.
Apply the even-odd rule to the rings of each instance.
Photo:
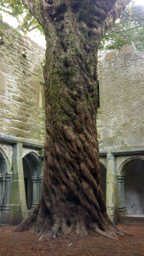
[[[10,162],[0,148],[0,224],[10,222]]]

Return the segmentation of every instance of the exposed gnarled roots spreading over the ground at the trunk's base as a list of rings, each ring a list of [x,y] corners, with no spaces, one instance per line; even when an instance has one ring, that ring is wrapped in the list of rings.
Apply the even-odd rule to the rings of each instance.
[[[40,218],[40,215],[38,215],[39,211],[40,204],[37,206],[34,212],[32,212],[32,214],[30,214],[30,216],[16,228],[15,231],[20,232],[23,230],[34,230],[38,236],[42,234],[38,241],[48,240],[50,238],[56,239],[60,236],[60,233],[68,235],[72,231],[75,231],[78,236],[87,236],[88,231],[92,230],[102,237],[114,240],[118,240],[119,236],[129,234],[119,230],[108,218],[102,219],[103,230],[101,230],[98,223],[92,221],[87,222],[84,220],[84,217],[80,216],[79,214],[74,214],[74,218],[72,218],[69,222],[66,221],[66,218],[60,218],[58,216],[55,216],[53,221],[50,221],[50,219],[46,216],[45,218],[44,216],[41,216]],[[121,242],[120,240],[118,241]]]

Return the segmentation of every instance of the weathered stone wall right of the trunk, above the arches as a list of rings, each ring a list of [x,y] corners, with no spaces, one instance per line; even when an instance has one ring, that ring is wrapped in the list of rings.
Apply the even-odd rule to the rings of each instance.
[[[100,150],[144,146],[144,53],[100,52],[98,78]]]

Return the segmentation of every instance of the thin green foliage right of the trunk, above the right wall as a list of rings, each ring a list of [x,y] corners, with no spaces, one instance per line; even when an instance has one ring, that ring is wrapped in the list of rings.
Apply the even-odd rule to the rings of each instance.
[[[144,5],[135,5],[134,0],[107,30],[99,48],[120,50],[126,44],[135,46],[139,51],[144,50]]]

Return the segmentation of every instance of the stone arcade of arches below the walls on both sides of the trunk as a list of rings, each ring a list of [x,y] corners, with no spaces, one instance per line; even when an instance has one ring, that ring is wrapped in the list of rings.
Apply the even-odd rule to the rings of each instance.
[[[42,156],[41,148],[28,149],[20,142],[8,146],[0,147],[0,223],[17,224],[40,201]],[[144,214],[143,152],[100,152],[102,191],[114,222],[121,214]]]

